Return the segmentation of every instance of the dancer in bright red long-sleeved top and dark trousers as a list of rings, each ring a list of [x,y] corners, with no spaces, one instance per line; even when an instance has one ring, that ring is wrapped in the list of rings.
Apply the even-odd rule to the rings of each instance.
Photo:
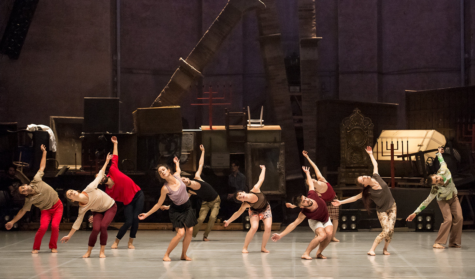
[[[139,229],[138,215],[143,210],[143,192],[133,180],[124,175],[118,167],[119,153],[117,151],[117,138],[114,136],[111,138],[114,143],[114,150],[112,152],[112,164],[109,168],[109,173],[101,180],[101,184],[105,184],[105,193],[113,198],[116,202],[122,202],[124,206],[123,214],[125,215],[125,223],[117,232],[115,241],[111,248],[117,248],[117,245],[121,241],[125,232],[130,228],[129,242],[127,247],[130,249],[135,248],[133,246],[133,240]]]

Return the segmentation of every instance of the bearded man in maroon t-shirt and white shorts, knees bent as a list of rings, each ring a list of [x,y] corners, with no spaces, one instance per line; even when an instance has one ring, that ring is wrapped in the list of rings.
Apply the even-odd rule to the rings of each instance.
[[[304,221],[305,217],[308,218],[308,224],[315,232],[314,239],[308,244],[307,250],[302,255],[302,259],[312,260],[310,252],[314,250],[318,244],[320,247],[317,250],[316,258],[326,259],[322,255],[323,249],[327,247],[328,243],[332,239],[333,234],[333,224],[332,220],[328,215],[328,209],[326,207],[325,201],[315,192],[314,183],[312,182],[312,177],[310,176],[309,167],[302,167],[305,174],[307,175],[307,182],[309,185],[308,195],[297,195],[293,199],[293,204],[302,208],[302,211],[298,214],[297,219],[294,222],[290,223],[283,232],[274,233],[272,235],[272,241],[278,241],[284,237],[287,233],[292,232],[298,224]]]

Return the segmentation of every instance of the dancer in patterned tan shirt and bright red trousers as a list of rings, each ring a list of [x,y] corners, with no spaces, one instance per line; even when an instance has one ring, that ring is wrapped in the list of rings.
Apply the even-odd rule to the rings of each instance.
[[[41,145],[43,155],[39,163],[39,170],[29,185],[23,184],[18,187],[20,194],[25,195],[25,205],[20,209],[18,214],[10,222],[5,224],[7,230],[13,227],[13,224],[30,211],[31,205],[35,205],[41,210],[41,219],[39,229],[35,234],[35,242],[33,242],[33,254],[38,253],[41,246],[41,240],[48,230],[49,222],[51,222],[51,238],[49,239],[49,249],[52,253],[57,253],[57,242],[59,235],[59,223],[63,216],[63,203],[59,200],[58,193],[41,178],[45,174],[43,171],[46,167],[46,149]]]

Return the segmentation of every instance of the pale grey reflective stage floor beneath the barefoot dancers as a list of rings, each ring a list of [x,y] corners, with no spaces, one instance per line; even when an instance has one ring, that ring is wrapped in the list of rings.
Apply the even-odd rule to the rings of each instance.
[[[474,278],[475,232],[464,231],[462,248],[433,249],[437,232],[395,232],[389,246],[390,256],[366,252],[378,232],[337,232],[341,242],[331,242],[323,251],[326,260],[302,260],[313,233],[297,227],[278,242],[269,241],[270,253],[260,252],[262,232],[257,232],[242,254],[246,232],[212,231],[209,242],[201,241],[202,232],[190,244],[192,261],[179,260],[181,243],[171,253],[171,262],[161,259],[174,236],[171,231],[139,231],[126,248],[110,249],[117,231],[109,231],[100,259],[99,240],[91,258],[83,259],[89,232],[77,231],[71,241],[58,243],[58,253],[50,253],[50,232],[43,238],[39,254],[31,254],[35,232],[0,232],[0,278]],[[274,233],[276,231],[273,231]],[[59,237],[66,235],[60,231]],[[126,234],[126,236],[128,233]],[[315,256],[316,250],[312,256]]]

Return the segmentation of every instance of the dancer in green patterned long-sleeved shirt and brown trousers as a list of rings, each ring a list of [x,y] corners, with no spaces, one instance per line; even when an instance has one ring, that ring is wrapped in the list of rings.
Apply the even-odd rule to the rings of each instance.
[[[416,214],[419,214],[437,196],[437,204],[440,207],[440,211],[442,211],[444,222],[440,225],[436,241],[432,247],[445,248],[442,244],[447,243],[448,234],[452,227],[448,246],[460,248],[462,244],[462,225],[464,223],[464,217],[462,216],[462,207],[460,207],[460,202],[458,201],[457,189],[452,179],[452,174],[447,168],[447,163],[444,161],[442,153],[444,153],[444,149],[439,147],[436,155],[440,162],[440,168],[437,174],[429,175],[426,178],[426,185],[432,186],[429,196],[419,205],[413,214],[408,216],[406,221],[412,221],[416,217]],[[454,215],[454,217],[452,217],[452,215]]]

